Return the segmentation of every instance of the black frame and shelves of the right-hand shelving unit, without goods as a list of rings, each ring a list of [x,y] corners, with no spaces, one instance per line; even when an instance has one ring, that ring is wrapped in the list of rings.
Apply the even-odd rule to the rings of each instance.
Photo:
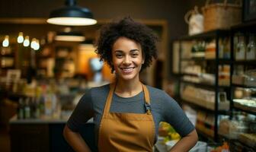
[[[211,108],[207,108],[206,104],[199,104],[200,102],[202,103],[202,101],[195,102],[195,100],[193,100],[193,97],[187,97],[187,98],[182,98],[182,96],[184,95],[184,92],[181,94],[181,88],[180,88],[180,97],[179,96],[175,96],[175,100],[177,101],[181,101],[181,105],[183,103],[187,104],[188,106],[197,109],[199,112],[206,112],[206,113],[210,113],[214,115],[214,135],[212,134],[212,130],[211,134],[206,134],[203,128],[203,130],[197,129],[197,133],[202,137],[202,139],[206,139],[206,141],[210,141],[209,139],[212,138],[212,141],[214,142],[219,142],[222,141],[223,139],[226,140],[226,138],[223,138],[225,135],[221,135],[218,131],[218,118],[220,115],[226,115],[229,116],[229,119],[232,119],[233,116],[235,115],[235,111],[240,111],[240,112],[244,112],[244,113],[248,113],[251,115],[256,115],[256,107],[255,106],[245,106],[243,105],[243,103],[238,103],[239,100],[235,100],[235,88],[238,88],[238,90],[253,90],[255,92],[256,90],[256,84],[254,83],[255,81],[253,81],[253,83],[250,83],[246,80],[244,80],[245,83],[240,83],[239,81],[236,81],[236,79],[234,78],[232,80],[232,76],[235,74],[235,71],[238,70],[238,68],[235,68],[236,66],[240,66],[239,68],[242,67],[243,71],[246,70],[256,70],[256,56],[255,59],[251,59],[251,60],[235,60],[235,46],[234,46],[234,37],[236,36],[237,33],[242,33],[245,34],[246,36],[249,35],[249,33],[253,33],[254,34],[254,39],[256,40],[256,22],[254,23],[249,23],[249,24],[240,24],[238,26],[232,27],[230,30],[213,30],[210,32],[206,32],[206,33],[201,33],[201,34],[197,34],[194,36],[181,36],[180,38],[178,38],[177,40],[174,40],[174,45],[176,45],[175,47],[173,47],[173,49],[175,48],[176,50],[176,54],[178,52],[178,55],[176,55],[176,57],[178,57],[178,62],[176,61],[176,65],[178,65],[178,69],[176,69],[176,71],[172,74],[174,75],[173,78],[175,78],[176,80],[178,80],[179,82],[179,87],[182,88],[181,84],[189,84],[194,86],[195,88],[202,88],[202,89],[207,89],[207,90],[214,90],[215,93],[215,97],[214,97],[214,109]],[[222,37],[226,37],[229,36],[229,49],[230,49],[230,58],[229,59],[219,59],[219,40]],[[194,40],[210,40],[210,39],[214,39],[216,42],[216,54],[215,54],[215,59],[206,59],[204,57],[199,57],[199,58],[187,58],[187,57],[183,57],[182,55],[182,43],[186,42],[186,41],[194,41]],[[254,42],[255,42],[254,40]],[[178,45],[177,45],[178,43]],[[248,39],[245,39],[245,44],[247,45],[248,43]],[[256,43],[256,42],[255,42]],[[177,47],[178,46],[178,47]],[[190,47],[192,47],[192,45],[190,45]],[[178,49],[177,49],[178,48]],[[189,48],[184,47],[185,49]],[[178,51],[177,51],[178,50]],[[256,52],[255,52],[256,54]],[[245,55],[246,57],[246,55]],[[212,81],[211,83],[205,83],[204,81],[198,81],[198,79],[194,79],[193,77],[198,77],[200,76],[200,74],[197,74],[196,72],[194,72],[193,70],[191,72],[183,72],[181,69],[181,64],[182,62],[187,62],[187,65],[191,64],[204,64],[203,66],[213,66],[213,68],[215,69],[216,72],[213,72],[211,74],[214,74],[214,81]],[[177,64],[178,63],[178,64]],[[229,65],[229,85],[219,85],[219,65]],[[187,78],[184,79],[184,76],[187,76]],[[242,79],[243,80],[243,79]],[[214,83],[213,83],[214,82]],[[228,100],[230,100],[230,104],[229,104],[229,110],[220,110],[219,107],[219,102],[218,102],[218,93],[219,90],[225,90],[226,95]],[[197,92],[197,91],[195,91]],[[255,94],[255,93],[254,93]],[[182,96],[181,96],[182,95]],[[255,97],[254,95],[252,95],[253,97]],[[237,97],[236,97],[237,98]],[[248,99],[248,98],[247,98]],[[248,103],[247,103],[248,104]],[[248,104],[250,105],[250,104]],[[203,123],[203,122],[200,122]],[[202,125],[202,124],[200,124]],[[240,139],[239,139],[240,140]],[[242,143],[241,141],[239,141],[238,139],[234,140],[229,140],[230,143],[229,144],[237,144],[237,143]],[[234,146],[233,145],[233,146]],[[245,150],[246,146],[244,146],[243,144],[241,144],[242,149]]]

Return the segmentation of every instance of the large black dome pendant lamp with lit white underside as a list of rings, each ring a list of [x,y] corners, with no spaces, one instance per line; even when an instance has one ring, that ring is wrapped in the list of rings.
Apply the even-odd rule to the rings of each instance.
[[[65,4],[66,7],[50,13],[47,23],[66,26],[85,26],[97,23],[91,11],[88,8],[77,6],[75,0],[66,0]]]

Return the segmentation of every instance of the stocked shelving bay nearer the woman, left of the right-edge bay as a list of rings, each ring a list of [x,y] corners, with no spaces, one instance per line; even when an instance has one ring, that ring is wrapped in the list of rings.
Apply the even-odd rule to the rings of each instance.
[[[197,110],[200,138],[218,141],[219,119],[230,116],[230,31],[213,30],[175,40],[181,106]],[[178,51],[177,51],[178,50]],[[178,72],[177,72],[178,71]]]

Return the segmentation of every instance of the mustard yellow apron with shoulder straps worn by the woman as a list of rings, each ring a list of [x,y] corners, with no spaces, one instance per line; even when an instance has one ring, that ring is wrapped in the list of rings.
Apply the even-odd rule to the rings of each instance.
[[[146,100],[145,113],[110,112],[115,86],[115,83],[110,84],[110,92],[104,106],[99,128],[98,150],[100,152],[152,151],[155,123],[150,107],[149,90],[142,84]]]

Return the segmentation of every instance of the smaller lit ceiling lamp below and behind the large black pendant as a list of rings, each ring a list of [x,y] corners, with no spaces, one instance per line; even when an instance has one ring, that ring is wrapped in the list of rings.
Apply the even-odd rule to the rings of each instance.
[[[71,42],[82,42],[85,40],[85,36],[79,32],[61,32],[55,36],[57,41],[71,41]]]

